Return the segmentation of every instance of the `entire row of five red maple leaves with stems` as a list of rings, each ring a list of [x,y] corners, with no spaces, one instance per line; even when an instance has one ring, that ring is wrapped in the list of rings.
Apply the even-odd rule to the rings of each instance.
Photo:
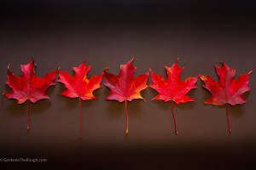
[[[205,103],[212,105],[226,105],[226,113],[229,122],[229,132],[230,132],[230,121],[228,114],[228,104],[244,104],[247,100],[242,96],[243,93],[248,91],[248,77],[252,71],[245,75],[240,75],[236,80],[234,76],[236,73],[235,69],[230,69],[227,65],[222,62],[222,67],[216,67],[216,71],[219,77],[218,82],[215,82],[210,76],[189,77],[185,81],[180,78],[180,73],[183,68],[179,68],[177,61],[171,67],[165,67],[167,71],[166,80],[160,75],[154,74],[154,72],[149,69],[145,74],[139,75],[138,77],[133,77],[136,67],[132,66],[132,61],[129,61],[126,65],[120,65],[119,75],[115,76],[107,71],[104,71],[98,76],[93,76],[90,79],[87,78],[87,72],[90,71],[90,66],[85,66],[84,62],[78,67],[73,67],[75,71],[74,77],[71,77],[67,71],[60,71],[57,68],[55,71],[48,73],[45,77],[39,78],[35,75],[35,64],[34,60],[27,65],[20,65],[21,71],[23,72],[22,77],[16,77],[11,71],[9,71],[8,66],[8,80],[6,84],[12,88],[12,91],[8,94],[3,94],[8,99],[17,99],[18,104],[24,103],[28,99],[28,121],[27,129],[29,129],[29,103],[36,103],[40,99],[49,99],[46,94],[47,88],[49,86],[55,85],[55,75],[59,71],[60,79],[58,82],[62,82],[67,90],[61,95],[68,98],[79,98],[80,103],[80,131],[79,136],[82,137],[82,106],[81,99],[96,99],[93,95],[93,91],[97,88],[102,88],[100,83],[102,82],[102,76],[105,77],[104,85],[111,90],[108,95],[107,100],[118,100],[119,102],[125,101],[125,113],[126,113],[126,134],[128,133],[128,115],[127,115],[127,100],[132,99],[143,99],[140,92],[147,88],[148,75],[149,72],[152,75],[152,84],[150,88],[154,88],[159,94],[154,99],[173,101],[179,105],[179,103],[187,103],[189,101],[194,101],[186,94],[190,89],[196,88],[195,82],[200,77],[204,84],[204,88],[212,94],[211,98]],[[173,113],[172,104],[172,115],[175,123],[175,133],[177,134],[177,125],[175,116]]]

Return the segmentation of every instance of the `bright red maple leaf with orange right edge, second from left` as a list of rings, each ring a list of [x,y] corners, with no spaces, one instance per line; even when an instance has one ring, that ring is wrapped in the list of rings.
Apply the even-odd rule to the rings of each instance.
[[[85,59],[84,59],[85,62]],[[58,82],[65,84],[67,91],[63,92],[61,95],[68,98],[79,98],[80,102],[80,112],[81,112],[81,122],[80,122],[80,137],[82,137],[82,104],[81,99],[96,99],[92,94],[94,90],[102,88],[100,83],[102,82],[103,73],[98,76],[93,76],[90,79],[87,78],[86,74],[90,71],[90,66],[85,66],[84,62],[78,67],[73,67],[75,71],[75,76],[71,77],[67,71],[59,71],[60,79]]]

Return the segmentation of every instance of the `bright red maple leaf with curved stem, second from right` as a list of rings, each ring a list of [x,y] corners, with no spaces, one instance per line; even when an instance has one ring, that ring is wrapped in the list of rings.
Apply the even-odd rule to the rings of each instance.
[[[167,78],[163,79],[160,75],[154,74],[153,71],[150,70],[152,75],[152,85],[150,88],[154,88],[159,94],[154,99],[164,100],[165,102],[172,100],[177,105],[179,103],[187,103],[189,101],[194,101],[186,94],[190,89],[196,88],[195,82],[198,77],[189,77],[184,82],[180,79],[180,73],[183,71],[183,68],[179,68],[177,65],[177,61],[172,67],[166,67]],[[173,113],[173,105],[172,105],[172,116],[175,124],[175,133],[177,134],[177,126],[176,119]]]

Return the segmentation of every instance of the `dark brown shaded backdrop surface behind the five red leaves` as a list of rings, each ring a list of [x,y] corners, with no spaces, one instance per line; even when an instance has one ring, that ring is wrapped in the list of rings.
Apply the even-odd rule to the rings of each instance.
[[[182,79],[199,74],[218,80],[214,65],[224,61],[236,68],[236,78],[256,71],[256,23],[250,1],[45,1],[1,3],[0,90],[11,89],[7,65],[21,76],[20,65],[31,57],[36,74],[44,77],[57,66],[73,74],[73,66],[92,65],[89,77],[105,67],[118,74],[132,57],[135,76],[148,71],[166,77],[164,66],[177,57],[185,67]],[[58,78],[58,76],[57,76]],[[151,77],[148,84],[151,84]],[[230,106],[228,133],[224,106],[204,105],[210,94],[189,92],[195,102],[174,105],[178,135],[174,133],[171,102],[146,99],[128,103],[129,135],[125,135],[125,104],[98,99],[83,101],[83,139],[79,139],[79,99],[60,95],[63,84],[48,89],[51,99],[31,105],[31,129],[26,131],[27,102],[1,98],[0,158],[47,158],[47,163],[23,166],[83,169],[243,169],[253,165],[256,151],[255,76],[244,94],[247,104]],[[0,167],[18,165],[0,162]],[[18,165],[20,166],[20,165]]]

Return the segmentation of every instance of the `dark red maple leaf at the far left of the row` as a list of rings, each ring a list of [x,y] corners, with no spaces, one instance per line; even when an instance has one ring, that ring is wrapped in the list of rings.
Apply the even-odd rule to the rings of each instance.
[[[22,77],[16,77],[11,71],[9,71],[6,84],[13,90],[8,94],[3,94],[8,99],[17,99],[18,104],[23,104],[28,99],[28,120],[27,129],[29,129],[29,101],[36,103],[40,99],[49,99],[49,96],[45,93],[49,86],[55,85],[55,75],[57,69],[43,78],[39,78],[35,75],[34,59],[27,65],[20,65],[23,72]]]

